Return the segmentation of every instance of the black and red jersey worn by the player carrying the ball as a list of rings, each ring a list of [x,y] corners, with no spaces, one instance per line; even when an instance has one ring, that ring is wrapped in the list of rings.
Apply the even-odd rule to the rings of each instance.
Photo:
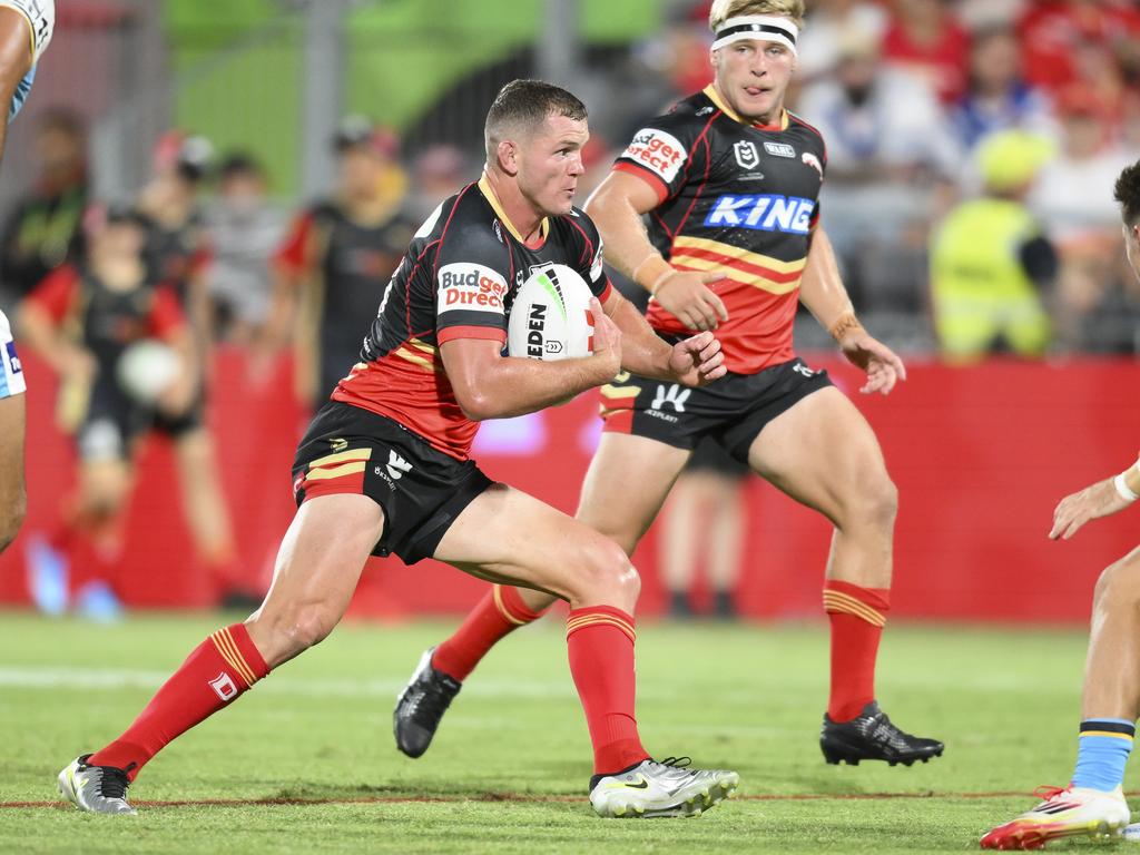
[[[546,264],[581,274],[600,300],[610,282],[602,242],[575,209],[543,221],[526,244],[503,213],[487,178],[443,202],[416,231],[384,290],[360,363],[333,400],[392,418],[432,447],[466,459],[478,429],[455,398],[439,345],[453,339],[506,342],[514,293]]]

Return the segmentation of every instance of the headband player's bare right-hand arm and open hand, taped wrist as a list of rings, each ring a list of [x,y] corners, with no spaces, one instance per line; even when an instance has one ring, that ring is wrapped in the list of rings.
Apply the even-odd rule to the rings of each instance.
[[[903,360],[886,344],[873,339],[855,317],[847,288],[839,276],[836,252],[823,228],[812,231],[807,266],[799,284],[799,299],[815,319],[831,333],[844,356],[866,372],[864,394],[887,394],[899,380],[906,380]]]

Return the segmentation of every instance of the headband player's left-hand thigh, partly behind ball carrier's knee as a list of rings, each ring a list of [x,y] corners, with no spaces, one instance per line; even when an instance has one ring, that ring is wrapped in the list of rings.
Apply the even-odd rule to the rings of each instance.
[[[603,433],[581,484],[577,519],[632,555],[691,454],[646,437]]]

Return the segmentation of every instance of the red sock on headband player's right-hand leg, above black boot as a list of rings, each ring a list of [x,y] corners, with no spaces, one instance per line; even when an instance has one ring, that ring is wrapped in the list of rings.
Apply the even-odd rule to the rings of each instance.
[[[829,579],[823,609],[831,619],[832,722],[849,722],[874,700],[874,660],[890,610],[889,588],[864,588]]]

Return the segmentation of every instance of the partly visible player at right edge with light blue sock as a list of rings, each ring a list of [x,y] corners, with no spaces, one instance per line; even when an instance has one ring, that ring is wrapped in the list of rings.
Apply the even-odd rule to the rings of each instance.
[[[1140,277],[1140,163],[1116,180],[1124,247]],[[1068,540],[1091,520],[1123,511],[1140,497],[1140,462],[1066,496],[1049,537]],[[1081,698],[1076,769],[1068,787],[1039,788],[1040,805],[982,838],[983,849],[1037,849],[1064,837],[1119,833],[1131,812],[1124,767],[1140,716],[1140,547],[1101,572],[1092,598],[1092,632]]]

